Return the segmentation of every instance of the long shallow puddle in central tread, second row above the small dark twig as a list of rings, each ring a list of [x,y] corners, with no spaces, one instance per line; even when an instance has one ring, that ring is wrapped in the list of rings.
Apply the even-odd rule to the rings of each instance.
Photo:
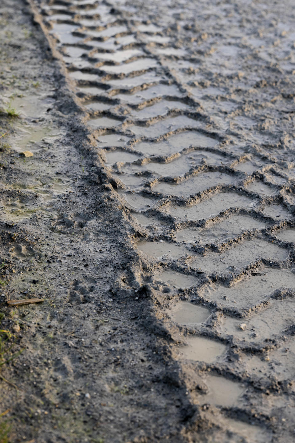
[[[186,228],[175,233],[177,241],[214,243],[236,237],[246,229],[262,229],[266,224],[248,215],[232,215],[210,228]]]

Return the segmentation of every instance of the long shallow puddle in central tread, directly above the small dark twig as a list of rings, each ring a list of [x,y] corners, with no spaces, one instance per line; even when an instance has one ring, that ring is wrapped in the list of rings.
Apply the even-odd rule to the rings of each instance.
[[[253,238],[242,241],[239,245],[233,246],[221,254],[210,252],[205,256],[194,255],[191,258],[191,263],[194,268],[200,268],[210,274],[214,271],[230,272],[230,270],[226,270],[229,266],[233,269],[242,269],[257,261],[259,257],[280,261],[286,259],[288,255],[287,249]]]

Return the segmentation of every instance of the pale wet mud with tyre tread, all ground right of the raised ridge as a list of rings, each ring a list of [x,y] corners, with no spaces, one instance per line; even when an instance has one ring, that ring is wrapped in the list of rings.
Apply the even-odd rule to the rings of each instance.
[[[138,284],[218,423],[188,441],[294,441],[294,5],[35,4],[129,218]]]

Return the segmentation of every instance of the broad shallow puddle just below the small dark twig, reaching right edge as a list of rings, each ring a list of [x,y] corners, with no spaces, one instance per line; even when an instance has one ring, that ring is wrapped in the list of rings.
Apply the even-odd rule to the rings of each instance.
[[[204,289],[203,295],[209,301],[219,302],[224,306],[249,308],[276,289],[295,290],[295,274],[290,269],[264,268],[259,272],[262,275],[248,277],[233,286],[211,285]],[[240,323],[245,322],[243,320]]]

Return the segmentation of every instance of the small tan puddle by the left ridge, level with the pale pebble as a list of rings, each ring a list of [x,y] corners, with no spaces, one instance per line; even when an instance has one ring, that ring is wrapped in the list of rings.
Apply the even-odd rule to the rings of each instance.
[[[184,286],[185,287],[185,286]],[[167,314],[180,325],[196,325],[203,323],[210,316],[210,311],[202,306],[189,302],[180,302],[171,307]]]

